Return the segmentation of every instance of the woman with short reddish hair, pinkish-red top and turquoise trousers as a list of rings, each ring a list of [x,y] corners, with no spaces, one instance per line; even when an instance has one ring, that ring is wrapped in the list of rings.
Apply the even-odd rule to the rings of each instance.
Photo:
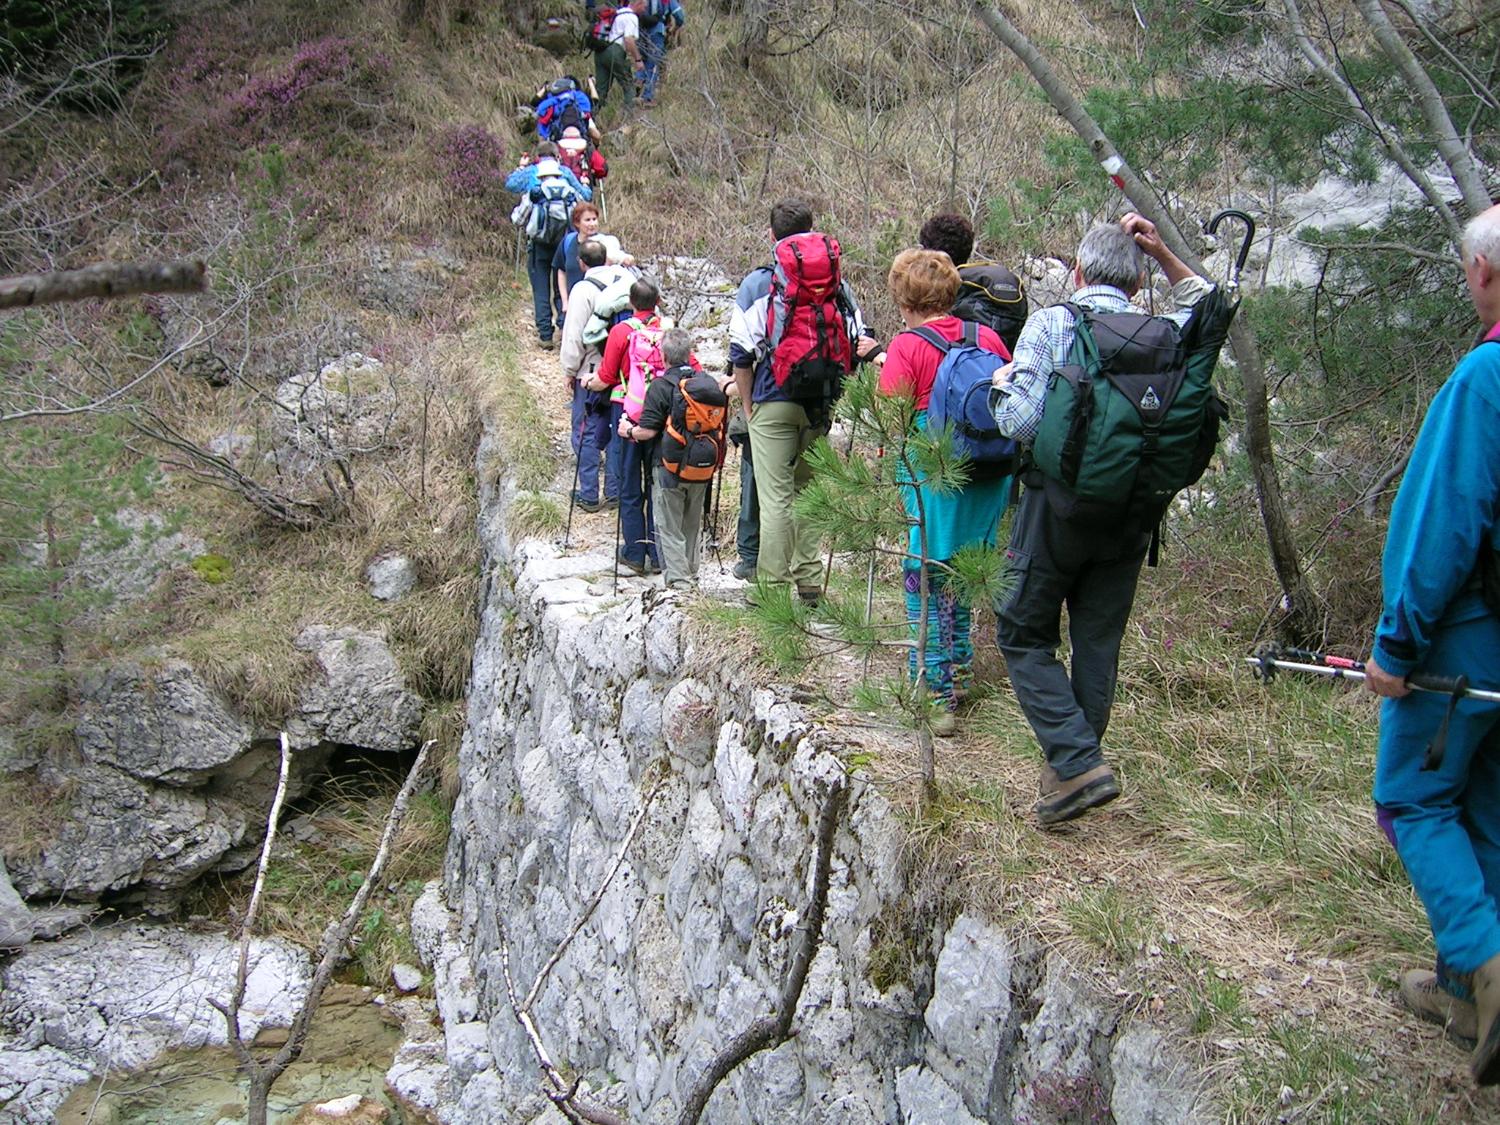
[[[916,410],[914,424],[916,429],[927,429],[933,417],[930,408],[939,405],[933,402],[934,396],[951,400],[956,393],[962,394],[956,382],[963,372],[969,372],[969,381],[978,387],[976,406],[987,412],[990,376],[1011,352],[992,328],[964,324],[950,312],[958,292],[958,270],[950,256],[939,250],[903,250],[891,266],[888,285],[906,330],[897,333],[885,350],[880,393],[910,396]],[[994,438],[999,438],[998,432]],[[956,435],[956,446],[960,441],[963,440]],[[926,484],[912,488],[909,483],[902,488],[906,514],[914,520],[908,531],[906,558],[902,561],[906,620],[914,640],[922,620],[920,561],[924,540],[930,564],[948,562],[969,544],[994,544],[1010,496],[1016,456],[1010,441],[996,441],[994,447],[993,458],[987,458],[987,450],[981,446],[958,450],[969,458],[970,466],[970,480],[962,489],[942,490]],[[909,480],[900,466],[897,474]],[[920,507],[915,495],[918,490]],[[915,524],[920,516],[921,526]],[[934,735],[954,732],[954,711],[972,681],[969,621],[969,606],[952,594],[940,566],[928,566],[922,675],[928,693],[942,708],[930,722]],[[908,672],[915,681],[915,648],[908,660]]]

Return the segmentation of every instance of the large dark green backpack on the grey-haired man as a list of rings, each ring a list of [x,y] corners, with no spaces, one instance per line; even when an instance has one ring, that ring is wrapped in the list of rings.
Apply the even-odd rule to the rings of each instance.
[[[1218,350],[1190,351],[1162,316],[1066,308],[1072,348],[1047,382],[1032,462],[1077,501],[1155,524],[1203,476],[1228,416]]]

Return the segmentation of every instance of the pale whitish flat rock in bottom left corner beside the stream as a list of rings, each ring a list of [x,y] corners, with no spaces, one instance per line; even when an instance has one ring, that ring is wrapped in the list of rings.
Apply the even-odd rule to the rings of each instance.
[[[33,945],[0,968],[0,1125],[42,1125],[80,1083],[142,1066],[170,1047],[228,1041],[208,999],[234,987],[237,945],[120,926]],[[285,1028],[312,976],[286,942],[250,945],[240,1034]]]

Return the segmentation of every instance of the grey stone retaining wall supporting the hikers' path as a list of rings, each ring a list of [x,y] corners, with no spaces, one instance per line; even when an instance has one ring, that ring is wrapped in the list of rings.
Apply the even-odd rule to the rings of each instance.
[[[482,520],[492,560],[447,876],[412,922],[447,1050],[398,1059],[408,1102],[442,1122],[548,1108],[506,972],[524,994],[573,934],[532,1008],[548,1050],[630,1120],[676,1120],[712,1056],[772,1011],[819,812],[848,788],[796,1034],[732,1071],[705,1120],[1216,1118],[1160,1030],[993,922],[912,936],[912,978],[878,986],[879,922],[909,910],[885,798],[786,693],[716,654],[675,596],[638,580],[614,594],[603,555],[512,549],[507,495]]]

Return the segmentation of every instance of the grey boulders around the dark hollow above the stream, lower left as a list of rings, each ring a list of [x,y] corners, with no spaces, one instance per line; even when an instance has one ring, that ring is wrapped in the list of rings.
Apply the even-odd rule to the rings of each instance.
[[[336,746],[396,752],[417,742],[423,700],[384,638],[312,626],[297,638],[320,675],[285,722],[297,754],[288,795],[308,794]],[[116,662],[78,688],[81,760],[40,764],[66,792],[33,854],[10,858],[27,898],[132,903],[171,912],[210,870],[254,862],[280,750],[183,660]]]

